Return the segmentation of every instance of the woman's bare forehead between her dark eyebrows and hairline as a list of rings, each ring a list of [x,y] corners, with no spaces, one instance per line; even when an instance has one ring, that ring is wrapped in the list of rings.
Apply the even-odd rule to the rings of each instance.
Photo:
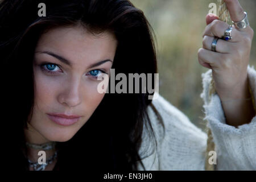
[[[110,32],[93,35],[82,26],[58,27],[40,36],[36,51],[52,51],[69,60],[102,60],[115,55],[117,40]]]

